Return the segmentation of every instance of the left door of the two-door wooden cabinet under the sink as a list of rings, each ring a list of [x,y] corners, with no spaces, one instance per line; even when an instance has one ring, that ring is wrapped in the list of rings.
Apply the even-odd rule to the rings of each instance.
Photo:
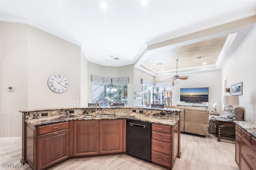
[[[73,155],[99,153],[99,121],[74,121]]]

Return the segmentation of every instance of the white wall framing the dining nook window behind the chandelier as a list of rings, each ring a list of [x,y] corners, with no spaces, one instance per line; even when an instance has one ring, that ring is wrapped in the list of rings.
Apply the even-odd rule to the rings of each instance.
[[[102,66],[88,61],[88,103],[92,102],[92,82],[91,76],[99,77],[129,77],[128,83],[128,102],[127,106],[133,106],[133,89],[134,89],[134,71],[133,65],[121,67]],[[88,105],[86,103],[86,106]]]

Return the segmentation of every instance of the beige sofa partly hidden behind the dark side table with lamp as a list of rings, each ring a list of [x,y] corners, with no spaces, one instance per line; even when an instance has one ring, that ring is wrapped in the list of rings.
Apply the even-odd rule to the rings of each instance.
[[[214,116],[223,116],[226,115],[228,111],[222,110],[221,112],[210,112],[209,115],[209,126],[208,126],[208,133],[216,134],[216,119]],[[234,106],[234,118],[235,119],[244,119],[244,109],[239,106]],[[235,135],[235,128],[232,127],[222,127],[221,134],[228,134],[228,135]]]

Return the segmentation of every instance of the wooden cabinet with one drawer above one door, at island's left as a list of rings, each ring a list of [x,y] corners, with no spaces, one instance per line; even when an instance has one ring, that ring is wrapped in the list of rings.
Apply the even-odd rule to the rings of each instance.
[[[38,127],[37,132],[36,167],[38,170],[69,158],[68,122]]]

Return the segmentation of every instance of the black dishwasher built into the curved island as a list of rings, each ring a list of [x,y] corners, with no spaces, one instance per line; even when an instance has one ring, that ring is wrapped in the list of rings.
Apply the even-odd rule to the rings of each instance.
[[[126,153],[151,162],[151,123],[126,120]]]

